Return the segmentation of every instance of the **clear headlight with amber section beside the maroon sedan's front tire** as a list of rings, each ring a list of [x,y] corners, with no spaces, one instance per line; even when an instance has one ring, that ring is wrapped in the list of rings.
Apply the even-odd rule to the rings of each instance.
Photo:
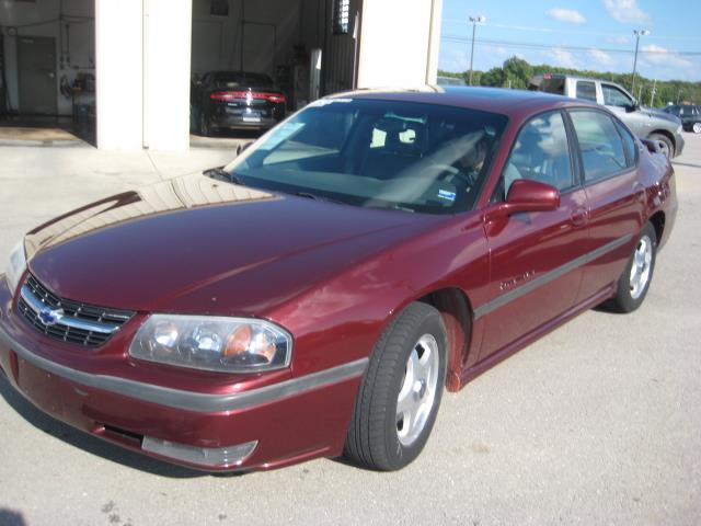
[[[289,365],[292,336],[265,320],[151,315],[129,354],[194,369],[257,373]]]

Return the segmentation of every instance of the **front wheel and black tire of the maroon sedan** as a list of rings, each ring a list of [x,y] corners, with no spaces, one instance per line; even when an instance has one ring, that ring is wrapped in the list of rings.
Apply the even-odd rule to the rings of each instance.
[[[394,471],[422,451],[446,379],[446,329],[440,313],[412,304],[384,330],[365,373],[346,437],[355,464]]]

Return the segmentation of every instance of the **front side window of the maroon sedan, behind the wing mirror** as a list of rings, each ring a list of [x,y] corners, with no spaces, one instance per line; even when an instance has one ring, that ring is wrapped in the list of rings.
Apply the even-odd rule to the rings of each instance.
[[[506,199],[517,179],[550,184],[560,191],[573,186],[567,133],[560,112],[539,115],[521,128],[502,172],[496,201]]]

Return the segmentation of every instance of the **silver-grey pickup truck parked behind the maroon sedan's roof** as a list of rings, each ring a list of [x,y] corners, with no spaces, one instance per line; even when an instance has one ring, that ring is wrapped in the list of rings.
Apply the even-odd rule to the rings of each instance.
[[[639,137],[658,141],[662,152],[668,158],[680,155],[683,149],[679,118],[642,107],[625,89],[613,82],[568,75],[544,73],[530,79],[528,89],[601,104],[616,113]]]

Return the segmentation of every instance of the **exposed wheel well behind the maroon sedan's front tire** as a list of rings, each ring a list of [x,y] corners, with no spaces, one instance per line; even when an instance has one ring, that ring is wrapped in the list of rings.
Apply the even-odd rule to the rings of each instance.
[[[420,301],[432,305],[443,316],[448,338],[446,388],[452,392],[458,391],[461,386],[460,373],[468,362],[472,336],[470,300],[459,288],[443,288],[420,298]]]

